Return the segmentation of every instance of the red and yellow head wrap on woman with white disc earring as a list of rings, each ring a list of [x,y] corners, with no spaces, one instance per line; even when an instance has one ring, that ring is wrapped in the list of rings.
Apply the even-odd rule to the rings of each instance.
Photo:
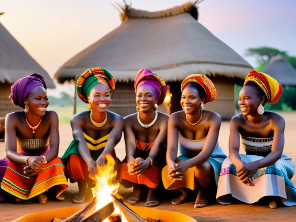
[[[276,103],[283,92],[281,85],[274,78],[265,73],[258,73],[255,70],[251,70],[244,81],[244,85],[249,81],[255,82],[260,86],[266,94],[267,102],[271,104]]]

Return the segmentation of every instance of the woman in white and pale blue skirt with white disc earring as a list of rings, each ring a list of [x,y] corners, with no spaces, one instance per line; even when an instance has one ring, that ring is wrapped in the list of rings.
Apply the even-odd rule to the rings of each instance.
[[[286,206],[296,205],[296,187],[292,159],[283,153],[284,118],[275,112],[264,112],[266,103],[274,104],[282,87],[271,76],[251,70],[239,92],[242,113],[230,121],[229,157],[222,165],[217,200],[231,203],[231,196],[245,203],[262,197],[276,208],[276,199]],[[239,140],[246,155],[239,154]],[[269,196],[269,197],[268,197]]]

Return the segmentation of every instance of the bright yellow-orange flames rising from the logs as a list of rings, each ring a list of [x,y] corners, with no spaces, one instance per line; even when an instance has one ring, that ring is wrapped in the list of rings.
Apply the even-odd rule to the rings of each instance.
[[[112,215],[121,215],[122,222],[128,222],[123,215],[119,207],[115,204],[112,194],[116,194],[119,189],[119,181],[114,181],[117,176],[117,171],[114,171],[115,160],[107,154],[105,155],[106,165],[99,166],[97,168],[98,173],[95,176],[91,176],[96,183],[96,186],[92,188],[93,197],[96,198],[96,210],[101,209],[110,202],[114,203],[114,212]],[[109,219],[105,219],[103,222],[110,222]]]

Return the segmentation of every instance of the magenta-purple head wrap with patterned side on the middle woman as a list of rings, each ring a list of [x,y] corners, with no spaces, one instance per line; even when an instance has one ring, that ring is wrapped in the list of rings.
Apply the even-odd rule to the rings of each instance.
[[[140,69],[135,79],[135,92],[140,86],[149,85],[155,90],[158,97],[157,104],[160,105],[165,100],[167,87],[165,81],[149,69]]]

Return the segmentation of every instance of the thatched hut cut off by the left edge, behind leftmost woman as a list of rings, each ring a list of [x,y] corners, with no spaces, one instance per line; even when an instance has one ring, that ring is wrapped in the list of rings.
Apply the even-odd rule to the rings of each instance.
[[[0,15],[3,14],[0,13]],[[5,117],[9,112],[20,110],[9,99],[10,87],[19,78],[32,73],[42,75],[48,88],[55,88],[55,84],[48,73],[0,22],[0,118]]]

